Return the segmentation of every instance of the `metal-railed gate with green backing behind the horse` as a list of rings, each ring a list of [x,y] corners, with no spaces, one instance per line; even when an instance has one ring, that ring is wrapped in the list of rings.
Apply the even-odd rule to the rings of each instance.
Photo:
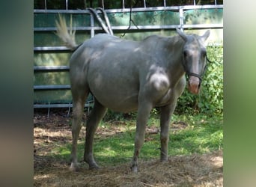
[[[103,32],[90,10],[34,10],[34,108],[72,107],[68,75],[71,52],[55,34],[58,13],[66,17],[67,24],[72,16],[77,43]],[[176,34],[175,28],[200,34],[210,28],[210,41],[223,40],[222,4],[124,7],[106,13],[114,34],[125,39],[142,40],[151,34],[170,36]],[[93,102],[93,96],[89,96],[85,107]]]

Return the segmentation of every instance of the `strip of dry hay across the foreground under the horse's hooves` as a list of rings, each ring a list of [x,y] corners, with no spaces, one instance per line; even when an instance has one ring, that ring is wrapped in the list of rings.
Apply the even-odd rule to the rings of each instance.
[[[55,162],[55,163],[54,163]],[[171,156],[168,162],[140,162],[138,174],[129,164],[79,172],[67,163],[46,163],[35,171],[34,186],[223,186],[222,151],[204,156]]]

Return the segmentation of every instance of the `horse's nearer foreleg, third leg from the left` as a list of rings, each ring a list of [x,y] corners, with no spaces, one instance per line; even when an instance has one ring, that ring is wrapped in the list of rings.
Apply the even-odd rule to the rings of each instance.
[[[144,135],[147,125],[147,120],[152,109],[151,103],[143,103],[138,105],[138,114],[136,120],[136,132],[135,132],[135,147],[132,158],[131,170],[138,172],[138,155],[144,144]]]

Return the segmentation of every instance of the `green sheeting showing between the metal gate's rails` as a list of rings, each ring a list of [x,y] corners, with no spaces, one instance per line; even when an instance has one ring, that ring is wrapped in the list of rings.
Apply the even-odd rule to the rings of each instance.
[[[70,24],[70,17],[73,19],[73,28],[76,28],[76,43],[82,43],[91,37],[91,15],[90,13],[61,13]],[[103,15],[100,14],[103,18]],[[143,28],[124,30],[129,26],[129,12],[108,13],[110,24],[115,27],[114,34],[129,40],[143,40],[152,34],[162,36],[171,36],[176,34],[174,29],[161,28]],[[59,47],[64,43],[55,34],[55,19],[58,19],[58,13],[34,13],[34,86],[38,85],[70,85],[68,70],[37,70],[37,67],[58,67],[69,66],[69,59],[72,52],[67,50],[41,50],[40,47]],[[135,25],[143,26],[161,26],[161,25],[180,25],[179,10],[147,10],[132,12],[132,20]],[[223,9],[196,9],[184,10],[184,25],[206,25],[223,24]],[[132,26],[135,26],[132,24]],[[94,18],[94,33],[103,33],[100,24]],[[118,28],[122,27],[122,28]],[[206,28],[196,28],[189,32],[203,33]],[[222,28],[212,28],[210,40],[222,40]],[[123,34],[125,36],[123,36]],[[40,68],[39,68],[40,69]],[[58,69],[58,68],[57,68]],[[72,97],[69,89],[34,89],[34,103],[70,103]]]

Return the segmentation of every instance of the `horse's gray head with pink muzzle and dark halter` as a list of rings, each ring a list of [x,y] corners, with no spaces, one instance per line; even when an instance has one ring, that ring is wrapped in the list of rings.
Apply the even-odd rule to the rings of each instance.
[[[176,30],[185,41],[182,63],[186,75],[189,76],[189,91],[198,94],[201,80],[207,67],[207,51],[204,41],[209,37],[210,30],[207,30],[202,36],[195,34],[186,35],[183,31]]]

